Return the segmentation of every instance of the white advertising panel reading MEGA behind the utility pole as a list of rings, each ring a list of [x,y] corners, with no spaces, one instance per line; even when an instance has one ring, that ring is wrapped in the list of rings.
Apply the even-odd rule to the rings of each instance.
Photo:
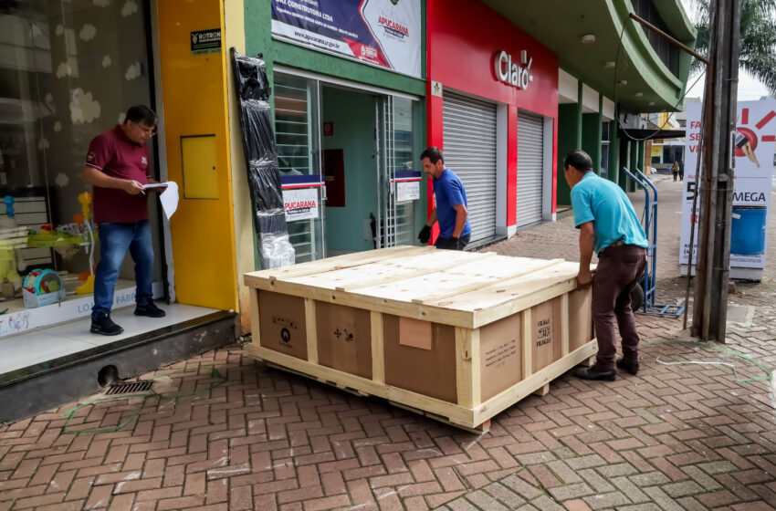
[[[679,262],[687,265],[690,225],[696,229],[693,264],[697,263],[697,218],[692,222],[700,144],[702,104],[687,105],[687,145],[682,201],[682,250]],[[776,101],[739,101],[735,141],[735,184],[730,234],[731,268],[764,268],[771,207],[773,152],[776,148]],[[700,209],[700,197],[697,199]]]

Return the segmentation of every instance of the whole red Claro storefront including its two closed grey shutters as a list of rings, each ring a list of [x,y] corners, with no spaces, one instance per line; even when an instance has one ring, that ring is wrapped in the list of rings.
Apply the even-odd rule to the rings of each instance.
[[[428,141],[466,186],[472,245],[551,219],[558,58],[486,5],[428,9]]]

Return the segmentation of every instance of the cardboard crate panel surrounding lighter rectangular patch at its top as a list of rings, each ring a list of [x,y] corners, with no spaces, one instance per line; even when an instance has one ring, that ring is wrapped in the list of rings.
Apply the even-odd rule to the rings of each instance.
[[[409,345],[412,341],[402,342],[403,319],[383,314],[385,383],[456,402],[456,328],[425,322],[430,325],[431,348],[416,348]]]

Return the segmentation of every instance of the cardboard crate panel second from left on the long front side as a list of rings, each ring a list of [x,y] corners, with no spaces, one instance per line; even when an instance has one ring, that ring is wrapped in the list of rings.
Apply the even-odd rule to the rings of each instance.
[[[320,365],[372,378],[371,314],[362,308],[316,302]]]

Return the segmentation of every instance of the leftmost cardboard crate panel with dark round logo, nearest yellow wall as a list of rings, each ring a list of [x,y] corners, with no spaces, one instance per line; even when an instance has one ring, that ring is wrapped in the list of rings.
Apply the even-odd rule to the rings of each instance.
[[[259,291],[258,325],[262,348],[307,360],[304,298]]]

